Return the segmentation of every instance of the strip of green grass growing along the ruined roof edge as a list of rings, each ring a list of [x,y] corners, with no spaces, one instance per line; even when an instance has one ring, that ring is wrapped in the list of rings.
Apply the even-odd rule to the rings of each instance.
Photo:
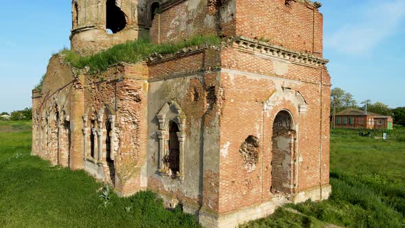
[[[75,52],[64,49],[61,54],[65,55],[65,61],[78,69],[89,67],[90,73],[102,72],[118,62],[136,63],[150,54],[172,54],[185,47],[199,45],[220,45],[218,36],[194,36],[186,41],[178,43],[151,43],[149,40],[139,38],[137,41],[128,41],[124,44],[115,45],[93,56],[80,56]]]

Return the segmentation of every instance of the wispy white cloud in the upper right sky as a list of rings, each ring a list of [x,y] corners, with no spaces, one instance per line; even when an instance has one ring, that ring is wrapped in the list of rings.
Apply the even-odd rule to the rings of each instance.
[[[405,19],[405,0],[371,1],[358,10],[360,20],[346,23],[325,34],[325,46],[345,54],[364,54],[395,34]]]

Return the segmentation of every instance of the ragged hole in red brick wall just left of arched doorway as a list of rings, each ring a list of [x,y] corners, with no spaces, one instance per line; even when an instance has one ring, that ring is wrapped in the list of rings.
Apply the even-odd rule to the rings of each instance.
[[[244,167],[248,172],[255,170],[259,159],[259,150],[259,138],[253,135],[249,135],[240,146],[239,152],[242,155]]]

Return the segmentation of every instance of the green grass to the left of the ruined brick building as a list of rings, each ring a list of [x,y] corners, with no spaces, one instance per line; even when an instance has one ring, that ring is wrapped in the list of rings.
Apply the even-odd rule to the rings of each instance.
[[[198,227],[194,216],[164,209],[152,192],[106,194],[108,207],[99,208],[100,183],[30,156],[30,125],[0,122],[0,227]]]

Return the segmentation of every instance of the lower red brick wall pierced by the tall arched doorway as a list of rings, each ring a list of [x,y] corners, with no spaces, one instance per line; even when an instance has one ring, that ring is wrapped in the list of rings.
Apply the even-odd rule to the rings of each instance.
[[[319,67],[290,64],[286,75],[277,76],[271,60],[239,52],[235,48],[223,50],[222,66],[239,73],[223,72],[221,79],[224,106],[220,119],[220,148],[226,146],[227,152],[226,155],[221,152],[220,156],[219,212],[240,209],[272,197],[271,137],[275,115],[283,109],[292,113],[299,132],[297,143],[302,157],[299,163],[299,191],[329,183],[330,79],[327,71]],[[321,80],[325,85],[319,84]],[[281,86],[290,87],[303,95],[308,102],[305,114],[299,114],[297,105],[288,100],[279,100],[268,113],[263,111],[262,102]],[[261,150],[253,172],[244,168],[239,152],[249,135],[259,138]]]

